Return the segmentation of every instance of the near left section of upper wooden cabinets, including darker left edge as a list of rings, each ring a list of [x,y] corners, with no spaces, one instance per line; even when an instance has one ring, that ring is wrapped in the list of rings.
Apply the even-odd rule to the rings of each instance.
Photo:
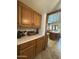
[[[18,27],[31,28],[33,20],[32,9],[18,1],[17,12],[17,23],[19,23]]]

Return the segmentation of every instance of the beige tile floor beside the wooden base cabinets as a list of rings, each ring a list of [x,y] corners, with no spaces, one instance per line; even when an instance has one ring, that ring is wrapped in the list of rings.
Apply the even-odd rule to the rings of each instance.
[[[61,59],[61,53],[56,48],[56,41],[48,39],[48,47],[37,55],[35,59]]]

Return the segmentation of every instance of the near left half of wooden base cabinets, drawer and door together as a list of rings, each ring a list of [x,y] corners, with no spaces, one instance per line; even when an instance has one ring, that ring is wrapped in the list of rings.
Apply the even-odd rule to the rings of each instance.
[[[18,59],[33,59],[35,57],[35,40],[25,42],[17,46]]]

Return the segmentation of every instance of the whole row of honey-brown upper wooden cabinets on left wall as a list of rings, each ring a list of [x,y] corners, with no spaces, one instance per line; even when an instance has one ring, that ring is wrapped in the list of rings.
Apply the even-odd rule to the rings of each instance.
[[[18,27],[25,28],[40,28],[41,25],[41,15],[24,5],[21,2],[18,2],[17,7],[17,24]]]

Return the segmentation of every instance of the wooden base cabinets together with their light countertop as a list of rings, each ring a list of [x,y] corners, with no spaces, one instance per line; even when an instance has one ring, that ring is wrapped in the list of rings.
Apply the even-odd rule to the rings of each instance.
[[[47,35],[24,36],[17,42],[17,59],[34,59],[36,55],[46,49]]]

